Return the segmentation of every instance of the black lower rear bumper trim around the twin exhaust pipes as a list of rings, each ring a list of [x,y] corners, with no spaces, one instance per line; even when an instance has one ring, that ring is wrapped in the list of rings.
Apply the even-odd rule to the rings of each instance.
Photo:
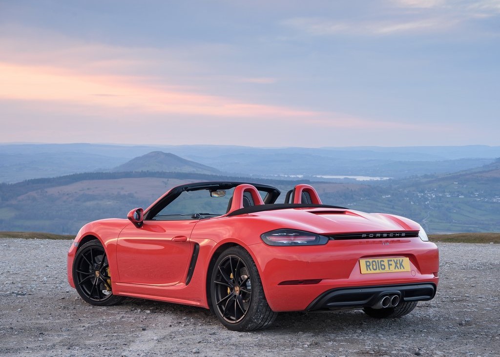
[[[373,287],[336,288],[325,291],[316,297],[307,306],[306,311],[373,306],[384,295],[398,295],[401,301],[425,301],[432,299],[435,292],[436,285],[430,282]]]

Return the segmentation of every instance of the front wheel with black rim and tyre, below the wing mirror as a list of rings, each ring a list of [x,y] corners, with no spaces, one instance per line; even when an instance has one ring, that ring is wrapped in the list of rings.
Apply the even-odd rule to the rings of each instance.
[[[124,297],[113,295],[106,252],[95,239],[80,246],[73,262],[73,281],[83,300],[92,305],[109,306]]]

